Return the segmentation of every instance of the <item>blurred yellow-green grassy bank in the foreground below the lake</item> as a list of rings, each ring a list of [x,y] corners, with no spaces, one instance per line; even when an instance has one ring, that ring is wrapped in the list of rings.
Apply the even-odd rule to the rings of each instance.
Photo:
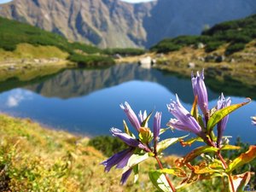
[[[99,163],[107,157],[89,141],[0,113],[0,191],[155,191],[147,174],[149,168],[156,167],[153,159],[141,166],[139,183],[134,184],[131,176],[121,186],[121,172],[113,169],[104,173]],[[174,157],[162,161],[173,166]],[[179,182],[175,177],[172,180]],[[196,183],[180,191],[218,191],[214,183]]]

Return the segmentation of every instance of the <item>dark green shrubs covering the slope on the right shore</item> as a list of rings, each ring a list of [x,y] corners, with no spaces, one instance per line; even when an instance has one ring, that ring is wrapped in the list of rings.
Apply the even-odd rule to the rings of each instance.
[[[225,54],[230,55],[241,49],[256,38],[256,15],[242,20],[232,20],[213,26],[202,32],[201,36],[181,36],[168,38],[154,45],[151,50],[159,53],[167,53],[178,50],[184,46],[197,47],[197,44],[206,44],[206,52],[212,52],[221,45],[229,44]]]

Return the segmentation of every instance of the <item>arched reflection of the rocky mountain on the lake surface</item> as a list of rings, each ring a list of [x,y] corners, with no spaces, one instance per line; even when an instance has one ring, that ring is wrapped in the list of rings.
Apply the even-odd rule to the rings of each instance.
[[[116,86],[131,80],[149,81],[161,84],[173,94],[183,96],[183,102],[193,102],[190,79],[179,79],[161,73],[156,69],[145,69],[135,64],[116,65],[107,69],[75,69],[61,72],[43,82],[26,85],[24,88],[42,96],[68,99],[86,96],[96,90]],[[218,94],[208,90],[209,99]]]

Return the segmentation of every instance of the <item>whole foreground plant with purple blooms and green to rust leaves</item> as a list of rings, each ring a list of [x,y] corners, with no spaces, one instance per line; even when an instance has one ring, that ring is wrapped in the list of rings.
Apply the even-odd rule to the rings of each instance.
[[[148,128],[148,119],[152,113],[147,114],[146,111],[140,111],[138,115],[136,115],[128,102],[125,102],[125,104],[120,105],[120,108],[124,110],[127,119],[137,131],[137,134],[133,134],[129,130],[125,121],[125,132],[117,128],[110,130],[113,137],[118,137],[126,143],[128,147],[117,154],[113,154],[108,160],[102,162],[106,172],[109,172],[113,166],[123,169],[121,183],[124,184],[131,175],[131,172],[138,170],[138,165],[143,162],[143,160],[154,157],[154,159],[157,160],[160,170],[150,171],[149,177],[152,183],[154,183],[154,186],[160,191],[176,191],[169,174],[173,174],[177,177],[186,177],[182,180],[182,184],[178,186],[179,189],[186,184],[194,183],[198,179],[210,179],[211,177],[227,177],[229,189],[232,192],[242,189],[247,184],[251,177],[251,172],[245,172],[235,176],[232,175],[232,172],[236,167],[242,166],[256,158],[256,146],[250,146],[245,154],[241,154],[235,160],[224,160],[221,152],[227,149],[238,149],[237,146],[229,145],[226,140],[224,140],[224,131],[230,113],[249,103],[250,99],[248,99],[247,102],[231,105],[230,97],[225,98],[224,94],[221,93],[216,106],[209,109],[207,87],[204,82],[204,71],[201,73],[197,72],[196,75],[192,73],[191,82],[195,96],[195,102],[191,112],[189,113],[189,111],[183,107],[183,104],[176,95],[176,101],[167,104],[167,109],[172,113],[174,118],[170,119],[166,125],[172,130],[192,132],[196,137],[187,141],[183,141],[184,137],[172,137],[160,141],[160,134],[168,130],[168,128],[160,129],[162,113],[155,113],[153,131],[151,131]],[[199,113],[198,108],[201,109],[201,113]],[[256,125],[256,117],[252,117],[252,123]],[[215,127],[217,136],[215,136],[214,132]],[[137,137],[135,135],[137,135]],[[204,142],[205,146],[195,148],[189,152],[189,154],[183,156],[183,158],[178,159],[176,167],[170,168],[169,166],[169,168],[164,169],[159,159],[159,155],[164,149],[169,148],[174,143],[180,142],[184,147],[196,141]],[[210,154],[206,154],[208,152]],[[194,166],[192,160],[195,160],[198,156],[205,157],[208,160],[200,161],[198,165]],[[191,172],[188,173],[184,171],[185,167],[186,170],[189,168]],[[137,171],[135,174],[137,174]],[[237,178],[240,180],[238,182],[236,181],[235,184]],[[159,181],[162,182],[159,183]]]

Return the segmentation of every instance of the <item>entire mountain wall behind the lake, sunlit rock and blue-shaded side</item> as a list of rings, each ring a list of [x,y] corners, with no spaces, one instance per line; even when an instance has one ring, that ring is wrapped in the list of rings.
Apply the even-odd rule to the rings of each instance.
[[[14,0],[0,15],[100,47],[150,47],[256,13],[255,0]]]

